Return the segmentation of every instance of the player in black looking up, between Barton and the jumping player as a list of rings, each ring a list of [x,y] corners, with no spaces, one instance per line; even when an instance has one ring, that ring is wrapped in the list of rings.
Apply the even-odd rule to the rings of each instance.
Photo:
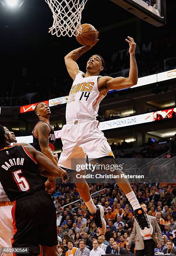
[[[54,154],[55,134],[52,126],[49,124],[51,115],[50,108],[46,103],[39,102],[34,110],[39,121],[33,129],[33,147],[42,152],[51,161],[57,165],[57,157]],[[47,191],[51,194],[55,190],[55,178],[45,179]]]

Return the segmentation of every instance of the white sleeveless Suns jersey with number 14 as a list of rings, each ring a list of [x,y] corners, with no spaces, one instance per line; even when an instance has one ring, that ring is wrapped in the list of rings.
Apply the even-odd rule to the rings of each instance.
[[[99,103],[105,97],[98,90],[98,76],[76,75],[66,104],[66,120],[94,118],[98,115]]]

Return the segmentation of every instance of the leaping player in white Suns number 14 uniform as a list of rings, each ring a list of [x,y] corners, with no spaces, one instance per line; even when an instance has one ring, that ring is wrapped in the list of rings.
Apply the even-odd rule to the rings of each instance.
[[[98,40],[92,46],[82,46],[65,56],[66,68],[74,82],[66,105],[66,125],[61,130],[63,151],[59,158],[59,166],[76,170],[77,164],[85,164],[86,155],[89,159],[94,159],[94,164],[100,163],[106,166],[108,164],[115,164],[114,156],[107,139],[104,133],[97,128],[98,121],[96,117],[99,103],[107,95],[109,90],[131,87],[138,82],[138,68],[135,61],[136,44],[133,38],[129,36],[125,40],[129,44],[130,53],[130,73],[128,78],[100,77],[99,73],[104,69],[105,63],[98,54],[94,54],[87,61],[87,72],[85,74],[79,70],[76,63],[77,59],[91,49]],[[117,170],[113,174],[120,175],[122,173],[122,171]],[[143,236],[150,236],[153,231],[152,226],[148,221],[146,213],[140,207],[129,181],[125,178],[115,179],[115,181],[133,207],[141,234]],[[86,203],[89,211],[94,215],[94,221],[99,233],[105,233],[106,222],[103,218],[104,209],[102,205],[94,205],[90,197],[89,186],[85,179],[80,179],[79,182],[77,181],[75,183],[79,195]]]

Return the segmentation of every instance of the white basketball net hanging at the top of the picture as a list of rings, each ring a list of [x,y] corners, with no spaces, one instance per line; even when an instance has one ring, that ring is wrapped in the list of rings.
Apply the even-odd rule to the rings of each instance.
[[[82,10],[87,0],[45,0],[53,13],[53,26],[49,33],[56,36],[80,34]]]

